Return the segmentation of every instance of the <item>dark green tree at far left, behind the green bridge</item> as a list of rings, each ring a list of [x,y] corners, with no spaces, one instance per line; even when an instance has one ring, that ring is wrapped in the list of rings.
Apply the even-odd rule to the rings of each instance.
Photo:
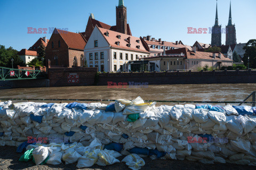
[[[26,66],[25,63],[20,59],[18,51],[14,50],[12,47],[5,48],[4,45],[0,45],[0,67],[13,68],[17,66]]]

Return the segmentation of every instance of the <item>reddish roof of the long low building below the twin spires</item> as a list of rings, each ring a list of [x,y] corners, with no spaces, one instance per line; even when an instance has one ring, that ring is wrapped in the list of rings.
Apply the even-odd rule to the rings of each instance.
[[[194,51],[190,51],[188,50],[188,48],[178,48],[178,49],[174,49],[174,50],[167,50],[165,52],[166,54],[180,54],[183,53],[185,54],[185,57],[187,59],[206,59],[206,60],[225,60],[225,61],[233,61],[229,58],[226,58],[225,55],[223,55],[222,53],[220,58],[218,58],[219,53],[215,53],[215,59],[213,58],[213,54],[214,53],[207,53],[207,52],[201,52],[201,51],[196,51],[196,53]]]

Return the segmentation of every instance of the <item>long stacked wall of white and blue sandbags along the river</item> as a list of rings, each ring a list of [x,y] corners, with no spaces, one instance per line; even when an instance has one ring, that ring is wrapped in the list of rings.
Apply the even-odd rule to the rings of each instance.
[[[255,108],[210,104],[156,107],[155,104],[145,103],[140,97],[108,105],[0,102],[0,145],[19,146],[29,142],[57,143],[62,147],[65,143],[79,143],[88,147],[97,139],[102,144],[101,150],[115,150],[122,155],[256,165]],[[68,152],[62,149],[63,161],[73,163],[75,159],[69,159],[72,155],[86,162],[90,157],[94,164],[95,155],[99,156],[99,150],[83,148],[79,153],[73,149]],[[107,157],[105,152],[101,154]],[[60,157],[60,153],[55,156]]]

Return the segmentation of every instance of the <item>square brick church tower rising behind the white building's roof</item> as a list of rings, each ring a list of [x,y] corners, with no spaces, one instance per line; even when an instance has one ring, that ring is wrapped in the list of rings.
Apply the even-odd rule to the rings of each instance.
[[[127,34],[127,15],[123,0],[119,0],[119,4],[116,6],[116,31]]]

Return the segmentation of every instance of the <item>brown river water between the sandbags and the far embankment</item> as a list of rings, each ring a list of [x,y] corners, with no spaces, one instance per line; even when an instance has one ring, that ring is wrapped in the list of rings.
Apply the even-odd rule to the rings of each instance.
[[[149,85],[147,88],[79,86],[2,89],[0,98],[131,100],[141,96],[144,100],[243,101],[253,91],[256,91],[256,84]]]

